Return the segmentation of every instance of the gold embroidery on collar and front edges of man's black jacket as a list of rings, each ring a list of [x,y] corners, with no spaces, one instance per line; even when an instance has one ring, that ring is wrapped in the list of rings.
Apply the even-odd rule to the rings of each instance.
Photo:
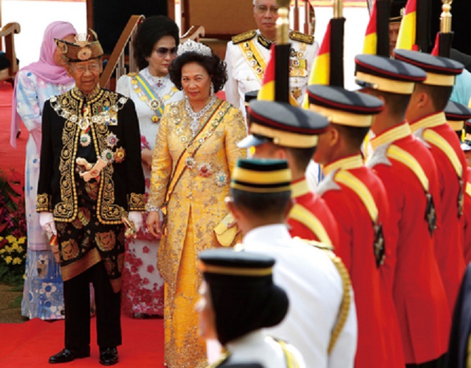
[[[74,88],[71,91],[52,98],[51,107],[56,113],[65,118],[62,134],[63,149],[61,151],[61,202],[54,208],[55,220],[73,222],[77,217],[77,193],[75,191],[74,163],[77,155],[77,143],[80,137],[80,125],[88,125],[89,120],[83,118],[84,103],[87,103],[88,111],[92,113],[91,127],[92,139],[96,142],[96,156],[108,148],[108,125],[118,124],[118,111],[123,108],[127,98],[120,97],[112,91],[96,89],[87,96]],[[113,165],[107,165],[102,170],[102,176],[97,196],[97,212],[100,222],[103,224],[120,224],[124,210],[119,205],[114,205],[114,183],[112,179]],[[90,188],[92,189],[92,188]],[[44,196],[38,201],[46,205],[48,201]],[[44,208],[40,207],[40,208]]]

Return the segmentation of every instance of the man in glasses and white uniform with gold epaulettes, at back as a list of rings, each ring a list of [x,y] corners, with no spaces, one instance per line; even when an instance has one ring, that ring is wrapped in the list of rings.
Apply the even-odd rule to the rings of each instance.
[[[270,46],[277,38],[277,11],[276,0],[253,0],[253,17],[258,29],[237,34],[227,43],[226,100],[243,111],[244,94],[260,89],[270,60]],[[313,36],[296,31],[289,32],[289,39],[289,91],[301,105],[318,43]]]

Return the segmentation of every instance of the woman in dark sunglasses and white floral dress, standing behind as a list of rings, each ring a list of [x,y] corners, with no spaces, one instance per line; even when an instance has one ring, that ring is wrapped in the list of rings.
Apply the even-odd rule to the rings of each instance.
[[[123,75],[116,85],[116,91],[130,97],[136,106],[146,191],[163,108],[183,98],[168,75],[168,66],[177,56],[179,43],[180,31],[173,20],[163,15],[147,18],[139,25],[133,42],[139,73]],[[159,239],[148,231],[139,231],[137,239],[127,242],[123,310],[134,318],[163,316],[163,279],[156,269]]]

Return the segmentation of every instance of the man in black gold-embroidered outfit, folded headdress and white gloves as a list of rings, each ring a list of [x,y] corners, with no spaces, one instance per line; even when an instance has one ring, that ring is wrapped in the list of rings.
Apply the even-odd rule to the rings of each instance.
[[[100,363],[112,365],[121,344],[123,222],[139,231],[145,204],[139,122],[132,100],[99,86],[98,41],[80,34],[56,44],[75,87],[46,101],[42,119],[36,210],[57,234],[65,305],[65,348],[49,363],[90,356],[92,282]]]

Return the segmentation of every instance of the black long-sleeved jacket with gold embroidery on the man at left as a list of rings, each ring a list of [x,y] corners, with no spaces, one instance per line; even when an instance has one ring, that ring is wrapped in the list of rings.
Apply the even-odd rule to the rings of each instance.
[[[97,88],[85,96],[74,88],[46,101],[37,212],[53,212],[58,222],[75,220],[75,160],[94,164],[99,157],[107,163],[99,174],[99,221],[120,224],[125,211],[144,210],[140,142],[134,103],[118,93]]]

